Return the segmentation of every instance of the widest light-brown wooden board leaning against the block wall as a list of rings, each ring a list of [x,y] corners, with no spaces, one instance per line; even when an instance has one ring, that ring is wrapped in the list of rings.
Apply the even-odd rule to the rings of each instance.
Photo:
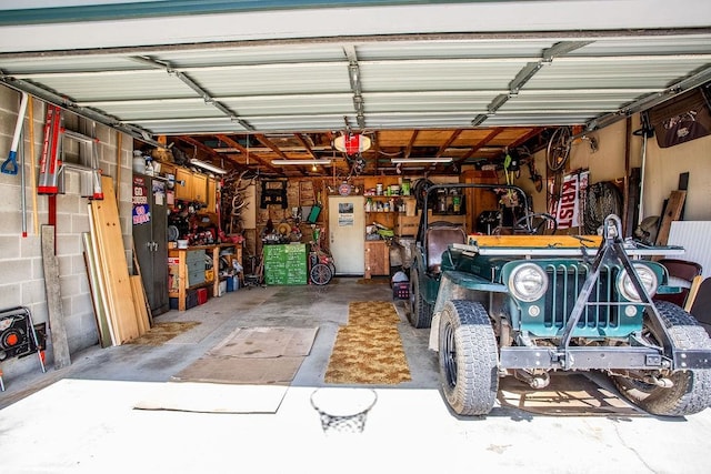
[[[96,234],[97,253],[106,283],[107,307],[116,336],[116,344],[122,344],[140,335],[133,304],[133,291],[129,268],[123,251],[123,238],[119,221],[119,209],[113,192],[113,181],[101,177],[103,200],[91,201],[91,215]]]

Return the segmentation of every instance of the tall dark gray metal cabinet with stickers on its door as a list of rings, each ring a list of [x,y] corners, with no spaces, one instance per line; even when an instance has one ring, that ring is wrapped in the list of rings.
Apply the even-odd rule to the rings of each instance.
[[[168,205],[166,182],[133,174],[133,243],[153,315],[170,309],[168,299]]]

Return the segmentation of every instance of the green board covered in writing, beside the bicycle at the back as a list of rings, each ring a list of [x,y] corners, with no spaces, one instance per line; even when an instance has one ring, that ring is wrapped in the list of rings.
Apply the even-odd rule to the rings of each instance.
[[[307,284],[307,245],[264,245],[264,282],[278,285]]]

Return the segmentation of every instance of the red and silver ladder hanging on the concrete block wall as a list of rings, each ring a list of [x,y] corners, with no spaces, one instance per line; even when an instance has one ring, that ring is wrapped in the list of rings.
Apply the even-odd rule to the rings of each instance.
[[[64,192],[64,172],[72,170],[79,173],[81,196],[102,200],[101,168],[99,167],[99,140],[96,135],[96,123],[90,122],[90,134],[67,130],[62,112],[58,105],[47,105],[44,139],[40,159],[40,175],[37,192],[39,194],[58,194]],[[80,163],[64,160],[64,141],[79,143]]]

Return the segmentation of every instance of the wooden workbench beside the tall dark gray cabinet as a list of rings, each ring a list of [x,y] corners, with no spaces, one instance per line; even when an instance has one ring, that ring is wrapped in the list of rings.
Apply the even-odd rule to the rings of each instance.
[[[242,264],[242,244],[241,243],[220,243],[217,245],[196,245],[187,249],[171,249],[168,251],[168,266],[169,266],[169,284],[168,296],[178,299],[178,311],[187,310],[187,296],[190,290],[212,286],[212,295],[218,295],[220,292],[220,252],[222,249],[233,248],[234,253],[231,255],[232,260],[237,259],[239,264]],[[206,255],[210,255],[212,259],[212,280],[206,281],[201,279],[199,283],[191,284],[190,262],[189,253],[202,251]]]

